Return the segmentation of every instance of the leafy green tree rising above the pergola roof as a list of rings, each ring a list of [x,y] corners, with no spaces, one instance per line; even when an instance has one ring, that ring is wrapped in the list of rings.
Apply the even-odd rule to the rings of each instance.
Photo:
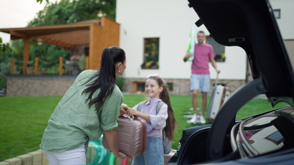
[[[116,0],[60,0],[47,3],[28,26],[86,21],[107,16],[115,20]]]

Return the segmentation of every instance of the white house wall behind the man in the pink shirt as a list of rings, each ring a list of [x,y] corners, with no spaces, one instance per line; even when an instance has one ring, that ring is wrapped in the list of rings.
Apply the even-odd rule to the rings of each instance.
[[[191,62],[183,62],[188,48],[189,33],[208,31],[196,27],[199,19],[187,0],[117,0],[116,21],[121,24],[120,47],[127,57],[125,78],[146,78],[160,74],[165,79],[190,79]],[[159,37],[159,69],[141,69],[144,38]],[[217,62],[219,79],[245,80],[246,55],[240,47],[225,47],[225,62]],[[216,71],[210,65],[211,78]]]

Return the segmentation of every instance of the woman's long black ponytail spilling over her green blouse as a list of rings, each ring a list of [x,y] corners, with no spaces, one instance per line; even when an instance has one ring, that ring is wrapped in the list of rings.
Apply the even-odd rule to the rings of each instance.
[[[109,97],[116,84],[115,67],[119,62],[125,61],[125,53],[122,48],[117,46],[112,46],[109,48],[104,48],[101,58],[100,71],[93,75],[87,82],[88,86],[83,93],[89,93],[89,97],[86,102],[89,101],[89,108],[95,104],[95,109],[97,113],[101,109],[106,98]],[[98,95],[93,99],[93,94],[100,89]],[[83,94],[82,93],[82,94]]]

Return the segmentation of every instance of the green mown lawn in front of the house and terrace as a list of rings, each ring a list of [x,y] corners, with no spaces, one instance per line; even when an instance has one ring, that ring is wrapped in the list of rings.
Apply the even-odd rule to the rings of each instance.
[[[40,149],[43,132],[61,98],[0,97],[0,162]],[[132,107],[144,99],[144,95],[125,95],[123,103]],[[183,129],[202,124],[189,124],[184,117],[184,115],[192,114],[189,110],[192,107],[191,96],[171,96],[171,102],[178,124],[175,141],[172,144],[172,148],[176,149]],[[198,102],[200,106],[201,97]],[[242,107],[236,118],[243,119],[271,109],[273,108],[267,100],[255,99]]]

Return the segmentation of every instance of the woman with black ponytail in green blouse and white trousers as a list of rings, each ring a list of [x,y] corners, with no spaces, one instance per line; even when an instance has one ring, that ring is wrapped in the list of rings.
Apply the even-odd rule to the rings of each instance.
[[[127,156],[118,151],[115,128],[120,108],[127,109],[116,77],[123,75],[126,59],[123,49],[105,48],[98,70],[80,73],[51,115],[44,131],[41,150],[49,165],[86,165],[89,139],[102,133],[117,158]]]

